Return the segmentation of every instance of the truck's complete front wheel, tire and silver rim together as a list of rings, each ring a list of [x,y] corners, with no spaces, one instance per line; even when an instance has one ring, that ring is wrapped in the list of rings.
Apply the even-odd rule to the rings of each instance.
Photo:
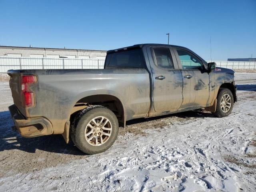
[[[216,117],[226,117],[228,116],[234,105],[234,98],[232,92],[227,88],[220,88],[217,96],[217,107],[213,114]]]

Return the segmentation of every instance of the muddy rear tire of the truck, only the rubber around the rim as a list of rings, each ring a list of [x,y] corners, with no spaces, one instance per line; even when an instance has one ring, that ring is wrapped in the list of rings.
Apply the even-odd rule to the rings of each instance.
[[[104,116],[108,118],[112,125],[112,133],[104,144],[100,146],[92,146],[85,138],[85,129],[87,124],[93,118],[96,118],[98,116]],[[86,154],[97,154],[108,150],[108,148],[112,146],[117,138],[118,129],[119,125],[116,115],[106,107],[95,105],[85,108],[75,116],[70,126],[70,135],[72,141],[79,150]]]

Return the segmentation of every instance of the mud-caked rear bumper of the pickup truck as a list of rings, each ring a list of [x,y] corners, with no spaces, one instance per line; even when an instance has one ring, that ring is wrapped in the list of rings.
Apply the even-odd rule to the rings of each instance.
[[[22,137],[36,137],[52,134],[52,124],[44,117],[26,119],[15,105],[9,106],[9,111],[16,129]]]

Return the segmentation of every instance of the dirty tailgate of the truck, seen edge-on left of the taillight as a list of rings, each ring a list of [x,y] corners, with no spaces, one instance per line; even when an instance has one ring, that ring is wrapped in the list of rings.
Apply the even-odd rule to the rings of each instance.
[[[9,70],[7,73],[10,76],[9,85],[12,91],[13,102],[21,114],[25,116],[25,108],[22,106],[21,101],[20,72],[19,70]]]

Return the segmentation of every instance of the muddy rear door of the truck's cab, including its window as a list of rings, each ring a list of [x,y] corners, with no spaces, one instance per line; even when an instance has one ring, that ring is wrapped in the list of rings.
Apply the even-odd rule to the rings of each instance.
[[[182,104],[182,73],[171,47],[147,48],[153,78],[153,100],[156,112],[175,111]],[[174,58],[174,59],[173,59]]]

